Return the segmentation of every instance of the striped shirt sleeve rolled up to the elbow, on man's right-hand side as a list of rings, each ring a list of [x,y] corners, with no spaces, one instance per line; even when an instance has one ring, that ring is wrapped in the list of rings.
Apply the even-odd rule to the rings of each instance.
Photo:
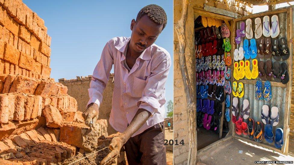
[[[146,79],[139,109],[146,109],[153,116],[165,103],[165,83],[171,66],[170,55],[164,53],[151,62],[151,75]]]

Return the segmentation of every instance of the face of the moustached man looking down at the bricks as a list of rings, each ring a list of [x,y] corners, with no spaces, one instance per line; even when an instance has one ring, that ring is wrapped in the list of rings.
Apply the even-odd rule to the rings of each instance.
[[[142,52],[147,47],[151,46],[161,33],[163,25],[154,23],[147,15],[144,15],[140,20],[131,23],[131,41],[130,46],[135,52]]]

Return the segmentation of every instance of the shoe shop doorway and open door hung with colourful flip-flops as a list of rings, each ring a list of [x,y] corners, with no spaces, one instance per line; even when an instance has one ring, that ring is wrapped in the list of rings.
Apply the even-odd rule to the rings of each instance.
[[[288,154],[292,10],[289,6],[239,16],[206,4],[193,8],[195,52],[185,52],[185,57],[195,56],[190,72],[196,85],[197,159],[209,157],[213,148],[231,147],[226,143],[232,139]]]

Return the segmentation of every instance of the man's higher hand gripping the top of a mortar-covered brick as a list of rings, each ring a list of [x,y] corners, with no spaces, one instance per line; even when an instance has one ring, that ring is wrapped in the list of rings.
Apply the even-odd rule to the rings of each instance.
[[[90,122],[93,122],[93,128],[95,128],[95,123],[99,116],[99,107],[95,103],[91,103],[88,105],[88,108],[82,114],[83,118],[85,119],[85,124],[90,126]]]

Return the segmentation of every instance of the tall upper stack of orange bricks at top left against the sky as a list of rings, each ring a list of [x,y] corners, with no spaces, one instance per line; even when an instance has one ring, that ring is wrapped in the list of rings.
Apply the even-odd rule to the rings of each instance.
[[[50,77],[51,37],[21,0],[0,1],[0,74]]]

